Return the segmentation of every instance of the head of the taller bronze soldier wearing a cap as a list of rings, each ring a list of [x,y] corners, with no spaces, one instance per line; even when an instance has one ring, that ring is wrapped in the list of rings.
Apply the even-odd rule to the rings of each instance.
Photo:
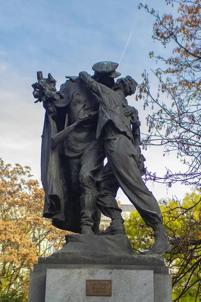
[[[94,75],[92,78],[98,83],[102,83],[109,88],[115,85],[115,78],[118,78],[121,73],[116,71],[118,63],[110,61],[97,62],[92,66],[94,70]]]

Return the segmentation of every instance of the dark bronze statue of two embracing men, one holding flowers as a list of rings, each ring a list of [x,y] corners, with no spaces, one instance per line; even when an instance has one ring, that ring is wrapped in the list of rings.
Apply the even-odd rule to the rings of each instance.
[[[38,72],[34,97],[46,109],[42,135],[43,216],[62,230],[99,235],[101,212],[111,218],[100,235],[125,235],[115,199],[119,187],[154,231],[155,243],[144,253],[170,250],[158,203],[145,186],[139,118],[126,97],[136,91],[131,77],[115,78],[117,63],[98,62],[94,74],[82,71],[56,91],[56,81]],[[37,102],[37,101],[36,101]],[[104,159],[108,163],[104,166]]]

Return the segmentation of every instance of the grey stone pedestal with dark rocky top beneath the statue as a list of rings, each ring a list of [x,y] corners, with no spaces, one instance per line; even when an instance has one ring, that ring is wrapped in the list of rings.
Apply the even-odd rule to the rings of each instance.
[[[163,258],[136,255],[126,236],[69,235],[66,242],[34,265],[29,302],[172,301]],[[86,295],[86,280],[111,280],[112,295]]]

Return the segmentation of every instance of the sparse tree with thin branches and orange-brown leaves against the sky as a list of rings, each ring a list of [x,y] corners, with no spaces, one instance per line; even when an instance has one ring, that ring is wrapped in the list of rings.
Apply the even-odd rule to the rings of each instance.
[[[186,165],[186,172],[167,169],[164,177],[147,173],[146,179],[174,182],[200,187],[201,180],[201,1],[165,0],[178,11],[159,15],[154,9],[140,4],[155,18],[152,39],[161,43],[171,55],[163,57],[150,51],[160,67],[152,70],[158,80],[156,96],[150,88],[149,74],[144,71],[137,100],[144,100],[144,109],[151,105],[147,116],[149,134],[143,138],[143,148],[162,145],[165,153],[177,151],[177,158]],[[164,155],[165,155],[164,153]]]

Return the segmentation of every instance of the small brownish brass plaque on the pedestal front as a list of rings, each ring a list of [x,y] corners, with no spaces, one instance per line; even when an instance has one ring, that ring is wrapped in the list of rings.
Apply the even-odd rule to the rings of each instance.
[[[112,280],[86,280],[86,295],[112,295]]]

